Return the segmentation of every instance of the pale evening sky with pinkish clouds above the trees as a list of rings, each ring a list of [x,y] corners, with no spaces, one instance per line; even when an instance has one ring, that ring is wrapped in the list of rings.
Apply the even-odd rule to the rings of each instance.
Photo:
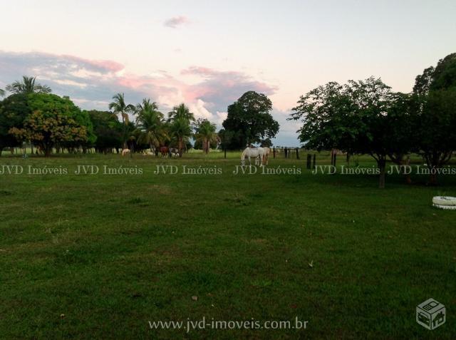
[[[0,13],[0,88],[36,76],[84,109],[120,92],[219,127],[253,90],[271,99],[281,146],[299,145],[286,118],[312,88],[375,76],[409,92],[456,52],[455,0],[1,0]]]

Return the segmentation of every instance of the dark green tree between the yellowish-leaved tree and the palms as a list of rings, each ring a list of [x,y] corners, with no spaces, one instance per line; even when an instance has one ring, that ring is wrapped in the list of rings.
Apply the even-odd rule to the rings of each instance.
[[[110,111],[87,111],[93,123],[93,133],[97,136],[95,150],[99,153],[108,153],[112,148],[122,148],[123,125],[117,115]]]

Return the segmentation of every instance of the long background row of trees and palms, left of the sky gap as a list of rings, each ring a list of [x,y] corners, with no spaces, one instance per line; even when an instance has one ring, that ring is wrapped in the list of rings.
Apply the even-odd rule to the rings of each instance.
[[[254,91],[229,105],[224,128],[218,133],[216,124],[195,119],[184,103],[165,116],[149,98],[133,105],[118,93],[109,110],[81,110],[68,96],[57,96],[51,88],[27,76],[6,86],[6,91],[11,94],[0,101],[0,155],[4,148],[23,143],[46,157],[54,150],[110,153],[121,148],[150,148],[157,153],[160,146],[177,148],[180,155],[192,147],[209,153],[218,146],[232,150],[248,143],[270,144],[270,138],[279,130],[269,113],[271,101]],[[6,91],[0,90],[0,96],[6,96]]]

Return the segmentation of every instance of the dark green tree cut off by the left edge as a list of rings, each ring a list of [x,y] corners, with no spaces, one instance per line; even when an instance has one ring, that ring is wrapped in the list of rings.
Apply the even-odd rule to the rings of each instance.
[[[26,95],[13,94],[0,102],[0,155],[4,148],[20,145],[20,141],[9,130],[24,127],[24,120],[31,113],[27,101]]]

